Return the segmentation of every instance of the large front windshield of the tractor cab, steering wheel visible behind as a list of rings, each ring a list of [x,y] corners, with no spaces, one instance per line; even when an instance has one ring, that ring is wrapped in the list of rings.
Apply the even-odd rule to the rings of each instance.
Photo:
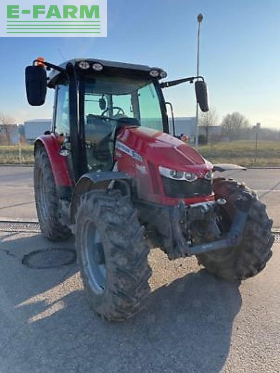
[[[163,131],[155,85],[147,80],[99,77],[85,81],[85,144],[88,168],[110,170],[117,120],[135,118],[140,126]]]

